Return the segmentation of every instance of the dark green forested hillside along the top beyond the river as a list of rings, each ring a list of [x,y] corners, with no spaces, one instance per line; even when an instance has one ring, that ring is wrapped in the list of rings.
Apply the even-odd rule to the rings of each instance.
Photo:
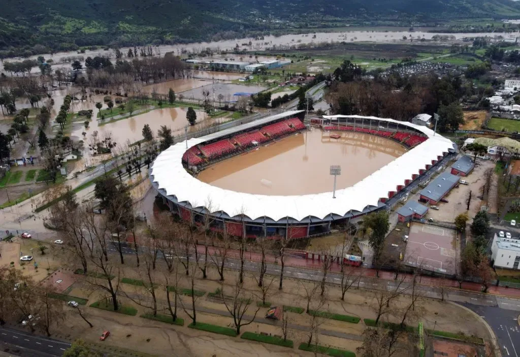
[[[21,49],[183,43],[346,23],[518,16],[520,4],[511,0],[3,0],[0,57]]]

